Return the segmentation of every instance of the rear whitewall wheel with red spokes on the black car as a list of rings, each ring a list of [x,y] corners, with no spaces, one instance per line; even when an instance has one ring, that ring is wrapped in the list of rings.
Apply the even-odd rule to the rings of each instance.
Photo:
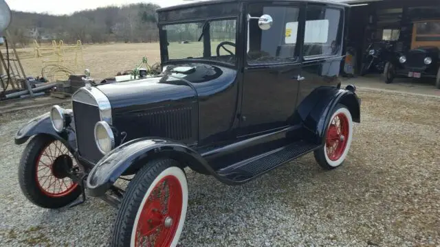
[[[326,131],[325,143],[314,155],[319,165],[334,169],[344,162],[353,138],[353,120],[346,106],[338,104]]]

